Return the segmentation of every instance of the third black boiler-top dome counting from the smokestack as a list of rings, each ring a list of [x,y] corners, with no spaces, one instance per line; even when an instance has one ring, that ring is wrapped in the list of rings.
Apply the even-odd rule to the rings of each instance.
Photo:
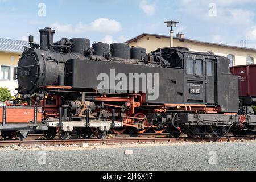
[[[112,57],[130,59],[130,46],[125,43],[114,43],[110,45]]]

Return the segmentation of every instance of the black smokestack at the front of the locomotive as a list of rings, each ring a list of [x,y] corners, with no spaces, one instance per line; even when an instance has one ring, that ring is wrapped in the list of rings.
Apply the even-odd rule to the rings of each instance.
[[[53,38],[55,30],[51,28],[44,28],[39,30],[40,32],[40,49],[53,50]]]

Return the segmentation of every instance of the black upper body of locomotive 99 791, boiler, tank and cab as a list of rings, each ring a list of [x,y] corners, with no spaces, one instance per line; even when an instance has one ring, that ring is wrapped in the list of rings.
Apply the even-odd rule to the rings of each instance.
[[[24,94],[39,92],[43,86],[70,86],[79,91],[97,89],[101,81],[97,80],[98,75],[110,76],[114,69],[115,75],[123,73],[127,77],[130,73],[159,75],[159,96],[148,100],[146,93],[145,103],[207,105],[218,107],[219,113],[236,113],[238,110],[238,77],[230,73],[229,60],[225,57],[190,52],[185,48],[162,48],[147,57],[143,48],[137,48],[137,55],[136,48],[131,48],[131,59],[130,47],[123,43],[112,44],[111,49],[108,44],[94,43],[90,49],[88,39],[77,38],[80,42],[73,47],[73,39],[66,41],[69,44],[55,44],[55,47],[50,43],[52,46],[49,46],[46,42],[53,40],[54,31],[40,30],[40,34],[45,31],[49,37],[41,35],[40,47],[44,48],[26,49],[19,61],[19,90]],[[63,52],[53,49],[61,49],[61,46],[70,49]],[[76,47],[80,47],[79,51]],[[151,84],[155,84],[154,77],[152,79]],[[139,90],[121,91],[142,92],[143,80],[134,78],[134,81],[141,81]],[[109,85],[117,82],[109,80]],[[129,88],[128,84],[125,88]]]

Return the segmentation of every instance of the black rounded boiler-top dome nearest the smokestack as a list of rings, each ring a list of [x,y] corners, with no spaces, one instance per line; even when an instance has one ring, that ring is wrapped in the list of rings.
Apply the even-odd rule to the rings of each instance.
[[[74,38],[70,39],[70,41],[75,44],[71,48],[71,52],[80,53],[81,55],[84,55],[84,50],[90,48],[90,40],[84,39],[84,38]]]

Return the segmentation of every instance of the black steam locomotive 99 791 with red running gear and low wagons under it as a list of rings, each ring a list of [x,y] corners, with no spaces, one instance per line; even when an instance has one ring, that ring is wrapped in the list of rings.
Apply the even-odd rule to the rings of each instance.
[[[137,134],[168,131],[172,137],[255,130],[253,111],[239,108],[238,76],[225,57],[183,47],[146,54],[125,43],[91,46],[84,38],[53,43],[54,30],[39,32],[40,45],[31,35],[31,47],[20,56],[20,97],[0,108],[5,139],[23,140],[31,130],[63,140],[72,131],[82,138],[95,133],[105,139],[109,131],[126,129]],[[20,110],[29,110],[26,117]]]

